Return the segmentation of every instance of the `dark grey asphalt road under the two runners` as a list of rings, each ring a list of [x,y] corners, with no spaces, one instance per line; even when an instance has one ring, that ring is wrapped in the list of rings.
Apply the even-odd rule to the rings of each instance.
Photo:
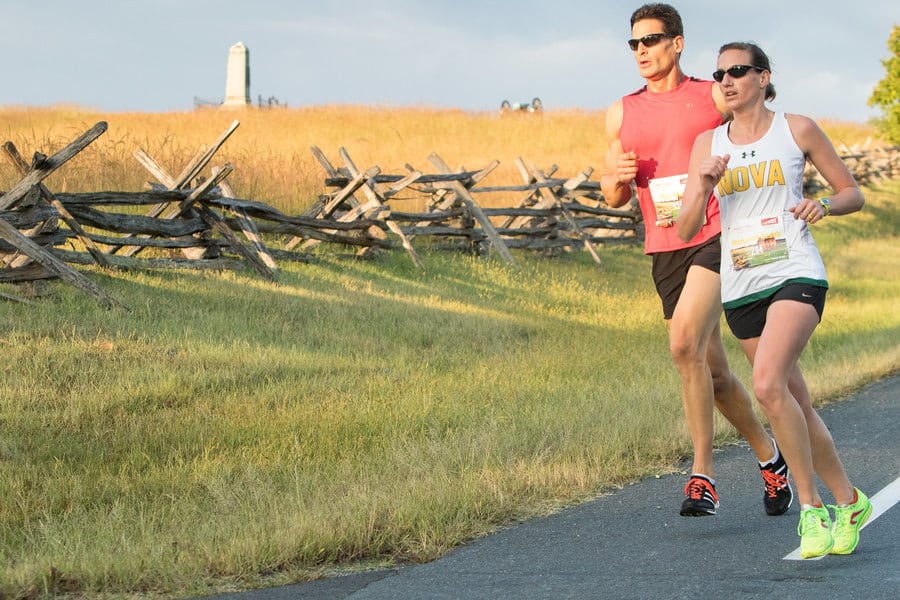
[[[753,453],[730,446],[715,455],[715,516],[678,515],[683,475],[651,478],[473,540],[428,564],[209,600],[898,599],[900,376],[819,412],[851,481],[876,505],[850,556],[791,560],[798,506],[767,516]]]

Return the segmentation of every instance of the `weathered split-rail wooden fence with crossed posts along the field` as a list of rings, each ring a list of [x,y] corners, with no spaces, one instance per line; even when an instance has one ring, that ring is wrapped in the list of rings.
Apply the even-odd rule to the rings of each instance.
[[[419,251],[452,248],[496,253],[515,264],[510,249],[541,252],[583,248],[600,265],[596,247],[638,244],[640,212],[632,203],[612,209],[588,167],[558,177],[556,165],[538,169],[515,161],[522,183],[482,185],[499,165],[454,170],[432,153],[433,172],[406,165],[384,173],[377,165],[356,165],[346,149],[335,166],[317,147],[311,150],[325,172],[326,193],[299,215],[235,197],[229,164],[210,166],[216,151],[234,133],[234,121],[209,149],[200,148],[177,176],[146,152],[135,159],[155,181],[136,192],[56,193],[43,180],[106,131],[98,123],[51,157],[36,153],[29,165],[10,142],[6,156],[22,173],[0,195],[0,282],[58,278],[107,306],[124,306],[70,264],[105,269],[250,267],[276,279],[277,261],[308,262],[317,244],[353,248],[359,255],[402,248],[418,269]],[[852,149],[845,158],[862,165],[863,183],[896,177],[897,152],[872,158]],[[209,167],[209,173],[204,171]],[[821,185],[814,172],[807,185]],[[817,183],[818,182],[818,183]],[[414,210],[416,208],[417,210]],[[18,299],[0,294],[3,299]],[[19,299],[25,301],[25,299]]]

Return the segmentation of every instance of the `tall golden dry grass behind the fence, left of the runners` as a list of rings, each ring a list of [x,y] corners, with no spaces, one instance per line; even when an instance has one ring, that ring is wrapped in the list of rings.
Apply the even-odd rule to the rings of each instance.
[[[310,152],[315,145],[335,166],[345,148],[357,166],[378,166],[385,173],[405,173],[409,164],[436,172],[428,156],[435,152],[452,168],[500,166],[486,185],[522,183],[513,161],[522,157],[539,168],[559,166],[560,176],[587,167],[600,168],[603,113],[548,111],[537,114],[469,113],[429,108],[328,106],[299,109],[215,109],[185,113],[100,114],[75,109],[0,110],[0,137],[11,140],[24,156],[51,154],[97,121],[108,131],[84,150],[48,186],[54,191],[136,191],[149,175],[133,158],[145,150],[177,175],[194,153],[231,124],[237,131],[219,151],[214,164],[232,163],[229,178],[241,198],[266,202],[297,213],[324,191],[325,172]],[[0,189],[17,181],[12,168],[0,163]],[[488,199],[485,203],[503,202]]]

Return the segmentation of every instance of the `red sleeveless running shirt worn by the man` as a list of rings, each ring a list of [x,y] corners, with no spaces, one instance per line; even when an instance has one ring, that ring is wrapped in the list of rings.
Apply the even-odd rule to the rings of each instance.
[[[625,152],[638,155],[635,184],[647,254],[698,246],[721,232],[715,197],[707,205],[706,222],[690,242],[682,242],[674,226],[694,139],[722,124],[712,85],[690,77],[669,92],[653,93],[644,86],[622,98],[619,140]]]

